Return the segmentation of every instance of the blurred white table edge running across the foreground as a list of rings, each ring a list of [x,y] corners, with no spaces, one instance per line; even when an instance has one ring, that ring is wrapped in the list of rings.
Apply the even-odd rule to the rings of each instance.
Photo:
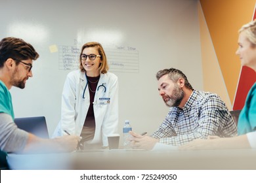
[[[64,154],[9,154],[11,169],[256,170],[256,149],[87,150]]]

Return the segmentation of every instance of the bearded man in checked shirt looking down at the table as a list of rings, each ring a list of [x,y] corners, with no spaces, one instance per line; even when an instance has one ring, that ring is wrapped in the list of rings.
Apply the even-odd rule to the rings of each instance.
[[[151,137],[130,131],[133,148],[152,149],[162,144],[181,146],[194,139],[206,139],[209,135],[237,135],[234,119],[218,95],[194,90],[178,69],[158,71],[156,78],[158,91],[170,109]]]

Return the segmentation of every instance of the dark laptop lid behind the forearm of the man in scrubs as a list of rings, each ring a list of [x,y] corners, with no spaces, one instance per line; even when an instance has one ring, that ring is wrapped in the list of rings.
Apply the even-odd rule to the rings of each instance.
[[[24,131],[28,131],[43,139],[49,139],[45,116],[15,118],[14,123],[18,128],[23,129]]]

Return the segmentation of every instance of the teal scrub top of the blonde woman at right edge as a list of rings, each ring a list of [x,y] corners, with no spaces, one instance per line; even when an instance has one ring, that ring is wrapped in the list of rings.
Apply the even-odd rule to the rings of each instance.
[[[256,131],[256,82],[249,90],[238,118],[238,135]]]

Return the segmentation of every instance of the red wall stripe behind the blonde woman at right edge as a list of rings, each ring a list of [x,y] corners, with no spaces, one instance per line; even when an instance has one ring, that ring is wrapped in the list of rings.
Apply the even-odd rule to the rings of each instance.
[[[256,18],[255,10],[253,14],[253,20]],[[236,97],[234,100],[233,110],[240,110],[244,107],[245,99],[247,93],[249,92],[251,86],[256,81],[256,73],[253,69],[249,67],[242,67],[242,71],[240,74],[238,88],[236,89]]]

